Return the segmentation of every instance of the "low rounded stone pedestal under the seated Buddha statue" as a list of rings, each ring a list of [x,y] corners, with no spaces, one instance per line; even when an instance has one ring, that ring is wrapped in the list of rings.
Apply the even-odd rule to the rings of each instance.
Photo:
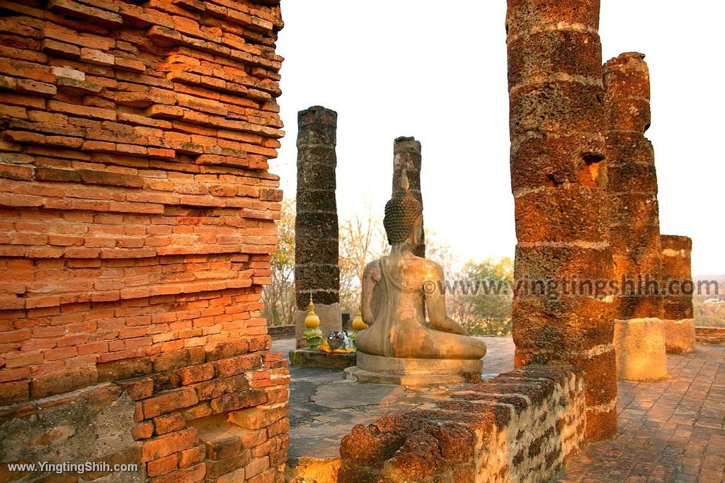
[[[410,359],[357,352],[357,367],[345,377],[359,382],[402,386],[453,385],[481,382],[482,359]]]

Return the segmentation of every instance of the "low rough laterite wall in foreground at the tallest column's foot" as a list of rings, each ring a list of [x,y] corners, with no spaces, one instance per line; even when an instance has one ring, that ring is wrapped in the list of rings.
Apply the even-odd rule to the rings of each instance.
[[[585,409],[581,372],[526,366],[354,427],[338,481],[546,482],[584,444]]]

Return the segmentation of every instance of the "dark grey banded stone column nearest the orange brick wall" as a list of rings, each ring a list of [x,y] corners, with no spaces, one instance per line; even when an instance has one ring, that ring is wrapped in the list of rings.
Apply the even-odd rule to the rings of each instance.
[[[340,269],[335,200],[337,113],[313,106],[297,115],[297,219],[294,290],[297,348],[307,347],[302,332],[310,294],[320,329],[340,330]]]

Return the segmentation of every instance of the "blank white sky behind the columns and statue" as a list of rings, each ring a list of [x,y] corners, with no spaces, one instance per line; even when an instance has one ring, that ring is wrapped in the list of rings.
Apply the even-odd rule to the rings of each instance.
[[[448,5],[448,7],[446,7]],[[426,228],[461,260],[513,256],[505,0],[289,0],[278,54],[286,137],[272,171],[297,182],[297,112],[338,112],[341,219],[390,196],[393,140],[423,143]],[[647,54],[661,231],[692,237],[693,274],[725,274],[721,20],[725,2],[602,0],[604,59]]]

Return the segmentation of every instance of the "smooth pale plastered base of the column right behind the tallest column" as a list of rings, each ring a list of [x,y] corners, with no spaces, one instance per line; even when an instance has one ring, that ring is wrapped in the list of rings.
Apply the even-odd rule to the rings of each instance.
[[[614,321],[617,377],[655,381],[667,377],[665,330],[661,319]]]

